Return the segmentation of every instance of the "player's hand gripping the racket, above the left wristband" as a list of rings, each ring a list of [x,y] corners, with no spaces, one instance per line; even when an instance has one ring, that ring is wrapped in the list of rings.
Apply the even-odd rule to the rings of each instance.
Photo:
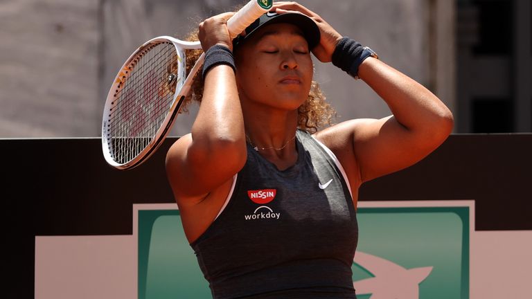
[[[231,18],[235,12],[224,12],[220,15],[215,15],[202,21],[199,24],[198,38],[202,43],[203,51],[209,50],[211,46],[219,44],[227,46],[233,51],[233,43],[227,29],[227,20]]]

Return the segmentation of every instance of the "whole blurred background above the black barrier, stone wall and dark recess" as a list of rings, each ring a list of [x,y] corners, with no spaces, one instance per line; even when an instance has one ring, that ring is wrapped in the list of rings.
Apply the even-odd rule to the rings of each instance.
[[[0,138],[100,136],[134,49],[185,37],[240,0],[0,0]],[[301,0],[452,109],[455,133],[532,132],[530,0]],[[390,114],[362,81],[315,62],[337,122]],[[170,133],[186,134],[195,109]]]

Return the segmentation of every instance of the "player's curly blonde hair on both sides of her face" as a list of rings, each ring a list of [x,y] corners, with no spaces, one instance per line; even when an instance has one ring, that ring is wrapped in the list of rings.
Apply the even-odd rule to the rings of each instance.
[[[186,38],[188,41],[197,41],[197,30],[193,31]],[[202,54],[202,50],[187,50],[186,51],[186,73],[194,66],[195,62]],[[188,105],[190,102],[202,102],[204,79],[202,72],[198,71],[195,75],[190,96],[187,97],[184,107],[181,111],[188,112]],[[319,84],[312,81],[310,84],[310,91],[307,100],[298,108],[298,128],[303,129],[309,133],[317,132],[321,127],[332,125],[332,119],[336,117],[336,111],[332,106],[326,102],[326,97],[321,91]]]

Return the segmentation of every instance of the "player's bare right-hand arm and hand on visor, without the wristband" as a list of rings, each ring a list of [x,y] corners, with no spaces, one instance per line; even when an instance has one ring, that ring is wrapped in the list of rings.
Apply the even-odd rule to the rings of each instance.
[[[312,53],[321,62],[330,62],[342,35],[319,15],[295,2],[277,2],[280,13],[296,10],[308,15],[321,32]],[[421,84],[369,57],[358,75],[387,103],[392,116],[348,120],[317,134],[344,167],[349,167],[356,185],[408,167],[441,145],[453,127],[452,114],[433,93]],[[356,105],[353,102],[352,105]]]

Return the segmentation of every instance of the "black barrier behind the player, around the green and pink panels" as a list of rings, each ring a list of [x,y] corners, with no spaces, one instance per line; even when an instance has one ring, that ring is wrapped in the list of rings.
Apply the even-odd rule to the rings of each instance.
[[[168,138],[115,170],[100,138],[3,139],[6,298],[30,298],[36,235],[131,235],[133,203],[172,203]],[[452,135],[416,165],[365,183],[360,201],[475,200],[476,230],[532,230],[532,134]]]

